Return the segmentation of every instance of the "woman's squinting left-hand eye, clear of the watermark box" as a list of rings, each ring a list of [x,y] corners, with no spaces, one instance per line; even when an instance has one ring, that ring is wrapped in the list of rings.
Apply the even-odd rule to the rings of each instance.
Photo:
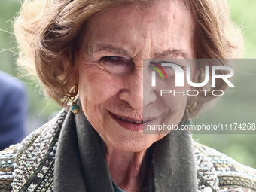
[[[133,59],[121,56],[103,56],[100,63],[102,68],[114,75],[125,75],[133,70]]]

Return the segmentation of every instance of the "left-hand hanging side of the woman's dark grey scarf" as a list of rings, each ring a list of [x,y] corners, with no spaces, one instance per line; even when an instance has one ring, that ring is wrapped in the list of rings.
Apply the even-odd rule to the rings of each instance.
[[[54,190],[114,191],[103,145],[83,113],[69,113],[59,137]]]

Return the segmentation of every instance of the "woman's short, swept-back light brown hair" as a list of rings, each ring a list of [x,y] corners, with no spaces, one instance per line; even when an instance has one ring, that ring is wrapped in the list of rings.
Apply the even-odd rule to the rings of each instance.
[[[178,0],[169,0],[178,1]],[[180,0],[181,1],[181,0]],[[242,35],[230,22],[226,0],[182,0],[194,18],[194,54],[197,59],[232,59],[242,52]],[[120,5],[151,5],[157,0],[25,0],[14,22],[20,45],[18,63],[41,81],[45,93],[59,105],[66,105],[69,77],[62,56],[74,66],[79,50],[80,33],[87,20]],[[219,62],[219,65],[228,65]],[[204,77],[204,66],[198,65],[198,78]],[[227,84],[216,84],[226,90]],[[215,96],[197,96],[195,116]]]

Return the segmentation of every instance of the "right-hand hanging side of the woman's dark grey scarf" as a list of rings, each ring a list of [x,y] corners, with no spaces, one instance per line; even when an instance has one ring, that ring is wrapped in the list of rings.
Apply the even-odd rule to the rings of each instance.
[[[187,130],[173,130],[154,144],[155,191],[197,191],[194,147]]]

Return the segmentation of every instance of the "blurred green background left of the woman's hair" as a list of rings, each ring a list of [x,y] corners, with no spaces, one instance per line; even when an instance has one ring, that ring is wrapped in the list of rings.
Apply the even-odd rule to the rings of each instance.
[[[28,133],[41,126],[52,117],[59,107],[50,99],[45,98],[38,82],[26,75],[21,75],[17,69],[17,42],[15,41],[12,23],[20,10],[20,2],[14,0],[0,2],[0,70],[14,75],[26,83],[28,91],[29,116],[27,120]],[[25,77],[24,77],[25,76]]]

